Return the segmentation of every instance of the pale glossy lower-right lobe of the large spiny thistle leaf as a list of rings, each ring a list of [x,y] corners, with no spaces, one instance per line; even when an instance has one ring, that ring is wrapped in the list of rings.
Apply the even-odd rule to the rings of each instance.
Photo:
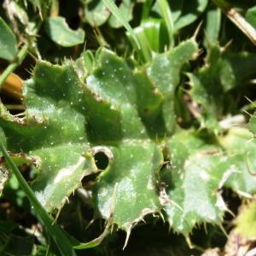
[[[163,206],[173,230],[188,235],[195,224],[220,224],[226,207],[218,189],[229,167],[226,157],[185,131],[169,139],[166,150],[171,165],[161,174],[169,198]]]

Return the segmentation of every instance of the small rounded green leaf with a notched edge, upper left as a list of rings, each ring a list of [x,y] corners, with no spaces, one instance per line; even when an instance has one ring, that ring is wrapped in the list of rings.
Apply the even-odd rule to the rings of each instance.
[[[50,17],[45,24],[46,32],[56,44],[71,47],[84,43],[84,30],[72,30],[63,17]]]

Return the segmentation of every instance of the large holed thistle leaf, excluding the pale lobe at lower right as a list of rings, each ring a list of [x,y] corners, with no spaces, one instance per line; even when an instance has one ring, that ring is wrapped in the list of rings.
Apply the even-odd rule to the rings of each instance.
[[[135,68],[101,49],[89,74],[81,63],[38,62],[23,90],[25,117],[18,119],[1,105],[0,124],[9,150],[41,160],[32,189],[48,211],[60,208],[84,175],[96,172],[92,156],[101,147],[110,153],[94,190],[99,212],[108,218],[113,192],[108,183],[119,183],[113,223],[127,232],[147,213],[160,211],[155,172],[163,156],[154,140],[172,135],[166,127],[170,119],[172,126],[176,122],[167,99],[172,105],[183,64],[196,53],[197,44],[188,40],[155,55],[148,68]],[[136,203],[128,211],[129,193]]]

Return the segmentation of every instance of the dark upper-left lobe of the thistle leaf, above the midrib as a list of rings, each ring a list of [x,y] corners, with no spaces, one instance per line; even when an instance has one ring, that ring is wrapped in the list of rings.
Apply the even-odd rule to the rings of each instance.
[[[17,119],[1,107],[2,117],[8,121],[1,119],[0,123],[7,137],[13,137],[7,143],[9,150],[29,152],[87,142],[83,87],[73,67],[40,62],[33,71],[33,79],[26,82],[23,94],[26,119]]]

